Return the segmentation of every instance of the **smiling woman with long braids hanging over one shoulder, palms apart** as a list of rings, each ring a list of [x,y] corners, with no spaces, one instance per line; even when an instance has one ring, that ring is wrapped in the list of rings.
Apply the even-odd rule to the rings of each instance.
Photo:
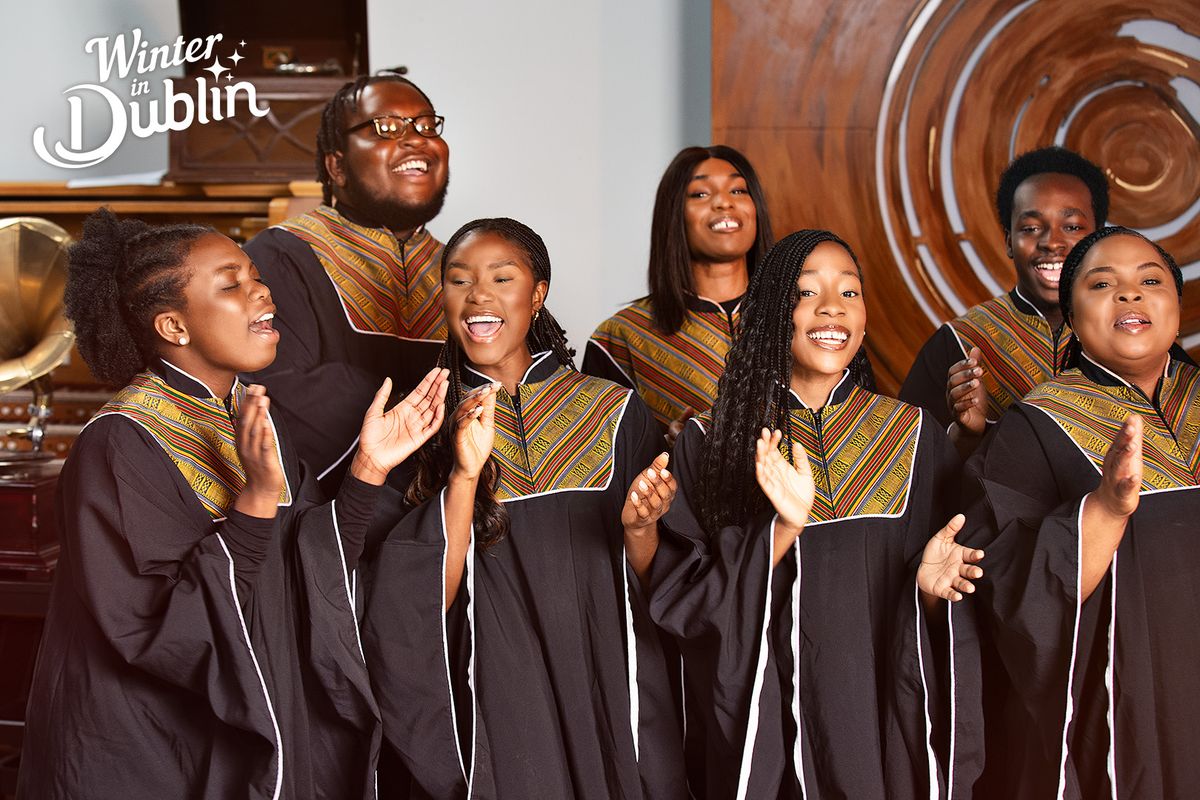
[[[676,443],[650,610],[683,652],[696,796],[943,782],[940,599],[972,590],[982,553],[954,543],[961,517],[937,531],[954,449],[870,391],[865,324],[846,242],[785,237],[750,282],[716,404]]]

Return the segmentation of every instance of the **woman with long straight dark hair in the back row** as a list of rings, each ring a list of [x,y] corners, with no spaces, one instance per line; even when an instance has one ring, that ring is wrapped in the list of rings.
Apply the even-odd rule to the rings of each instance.
[[[746,157],[725,145],[682,150],[654,200],[650,293],[600,323],[583,372],[637,390],[673,441],[713,404],[742,296],[773,242]]]

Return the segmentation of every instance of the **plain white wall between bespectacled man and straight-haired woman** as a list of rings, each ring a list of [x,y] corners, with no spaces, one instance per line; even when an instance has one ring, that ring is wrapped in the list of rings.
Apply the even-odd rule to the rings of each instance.
[[[710,136],[708,0],[368,0],[373,68],[404,65],[446,118],[444,241],[476,217],[540,233],[547,306],[582,356],[646,293],[659,178]]]

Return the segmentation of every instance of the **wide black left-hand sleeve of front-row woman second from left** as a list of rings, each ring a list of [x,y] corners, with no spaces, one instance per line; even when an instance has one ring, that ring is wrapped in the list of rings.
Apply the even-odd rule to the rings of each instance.
[[[464,649],[457,639],[468,634],[460,622],[468,614],[474,547],[448,612],[444,498],[443,491],[409,512],[379,547],[362,644],[384,738],[425,793],[463,798],[472,754],[460,741],[460,726],[470,732],[473,722],[460,721],[458,708],[469,714],[474,702],[455,697],[461,685],[451,680],[451,654]]]

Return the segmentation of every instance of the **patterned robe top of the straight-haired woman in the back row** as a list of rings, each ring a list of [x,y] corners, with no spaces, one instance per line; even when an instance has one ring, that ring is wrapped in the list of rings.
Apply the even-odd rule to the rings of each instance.
[[[642,297],[600,323],[583,353],[583,372],[636,390],[666,432],[689,409],[713,407],[740,303],[691,295],[683,325],[665,336],[654,325],[650,299]]]

